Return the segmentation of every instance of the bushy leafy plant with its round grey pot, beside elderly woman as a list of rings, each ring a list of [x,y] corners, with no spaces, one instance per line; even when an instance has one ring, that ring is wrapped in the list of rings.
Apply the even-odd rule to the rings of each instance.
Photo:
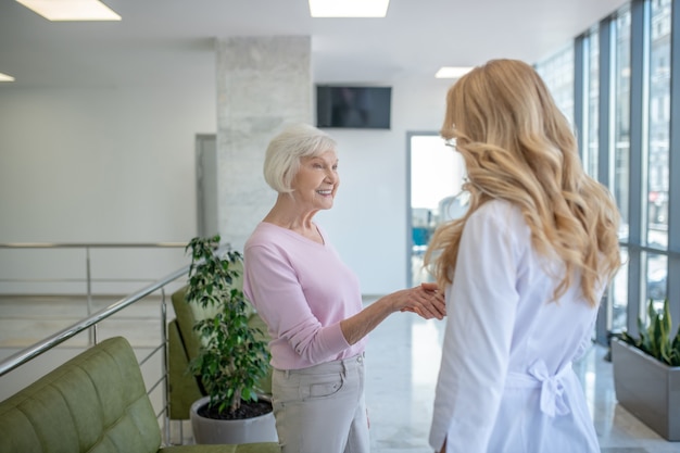
[[[201,348],[189,363],[206,394],[191,406],[194,440],[276,441],[272,403],[257,388],[268,373],[269,353],[262,332],[248,323],[252,306],[239,284],[242,255],[221,252],[219,236],[193,238],[186,251],[191,252],[186,301],[205,312],[193,326]]]

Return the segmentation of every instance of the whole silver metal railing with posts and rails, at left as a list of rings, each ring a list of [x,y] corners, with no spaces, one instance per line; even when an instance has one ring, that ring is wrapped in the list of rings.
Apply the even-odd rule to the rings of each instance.
[[[0,243],[0,248],[84,248],[87,250],[87,290],[88,290],[88,306],[91,307],[91,275],[89,273],[89,250],[92,248],[159,248],[159,247],[186,247],[186,244],[180,244],[180,243],[134,243],[134,244],[127,244],[127,243],[61,243],[61,244],[49,244],[49,243],[16,243],[16,244],[8,244],[8,243]],[[42,353],[52,350],[53,348],[58,347],[59,344],[63,343],[64,341],[75,337],[78,334],[84,332],[85,330],[89,330],[89,340],[90,340],[90,344],[96,344],[98,339],[97,339],[97,326],[99,325],[99,323],[101,323],[104,319],[110,318],[111,316],[113,316],[114,314],[121,312],[122,310],[135,304],[136,302],[139,302],[140,300],[144,299],[146,297],[156,292],[156,291],[161,291],[161,343],[153,347],[151,352],[142,357],[139,361],[140,366],[147,362],[148,360],[150,360],[151,357],[153,357],[155,354],[162,352],[163,357],[161,360],[162,363],[162,370],[161,370],[161,377],[152,382],[148,390],[147,393],[150,394],[154,389],[156,389],[160,385],[164,386],[164,391],[163,391],[163,401],[162,401],[162,408],[161,412],[159,414],[156,414],[156,416],[160,418],[161,416],[164,416],[164,437],[165,437],[165,443],[168,444],[169,443],[169,406],[168,406],[168,401],[169,401],[169,387],[167,385],[167,380],[168,380],[168,351],[167,351],[167,303],[166,303],[166,291],[165,291],[165,287],[173,284],[174,281],[176,281],[177,279],[188,275],[189,273],[189,267],[190,265],[187,265],[178,270],[175,270],[173,273],[171,273],[169,275],[155,280],[154,282],[152,282],[151,285],[146,286],[144,288],[140,289],[139,291],[136,291],[116,302],[114,302],[113,304],[98,311],[97,313],[90,313],[88,311],[88,317],[86,317],[85,319],[81,319],[60,331],[58,331],[56,334],[45,338],[43,340],[28,347],[25,348],[21,351],[18,351],[17,353],[9,356],[8,358],[3,360],[2,362],[0,362],[0,377],[7,375],[8,373],[21,367],[22,365],[25,365],[26,363],[33,361],[34,358],[38,357],[39,355],[41,355]]]

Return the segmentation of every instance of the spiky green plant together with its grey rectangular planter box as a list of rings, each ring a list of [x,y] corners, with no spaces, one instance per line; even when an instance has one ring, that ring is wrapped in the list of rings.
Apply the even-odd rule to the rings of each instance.
[[[647,323],[638,318],[639,337],[612,339],[616,398],[631,414],[669,441],[680,441],[680,328],[671,338],[668,299],[659,312],[654,300]]]

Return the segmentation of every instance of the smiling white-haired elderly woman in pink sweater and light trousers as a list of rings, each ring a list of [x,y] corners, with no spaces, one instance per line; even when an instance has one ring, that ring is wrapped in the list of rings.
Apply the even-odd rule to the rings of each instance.
[[[360,282],[314,222],[338,191],[336,142],[308,125],[286,128],[264,162],[276,203],[244,248],[244,292],[272,336],[272,393],[284,453],[369,451],[364,402],[366,335],[390,314],[444,316],[433,284],[365,309]]]

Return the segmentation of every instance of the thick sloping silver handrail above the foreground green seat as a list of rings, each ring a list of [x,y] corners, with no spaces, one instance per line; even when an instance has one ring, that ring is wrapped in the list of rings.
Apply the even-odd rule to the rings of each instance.
[[[46,339],[43,339],[42,341],[39,341],[13,355],[11,355],[10,357],[5,358],[4,361],[0,362],[0,376],[3,376],[5,374],[8,374],[9,372],[11,372],[12,369],[25,364],[26,362],[35,358],[36,356],[42,354],[43,352],[54,348],[55,345],[66,341],[67,339],[74,337],[77,334],[80,334],[81,331],[84,331],[85,329],[88,329],[89,327],[92,327],[93,325],[98,324],[100,320],[108,318],[109,316],[113,315],[114,313],[119,312],[121,310],[125,309],[126,306],[139,301],[140,299],[151,294],[152,292],[163,288],[164,286],[175,281],[177,278],[186,275],[189,272],[189,265],[180,268],[179,270],[175,270],[174,273],[167,275],[164,278],[161,278],[160,280],[156,280],[155,282],[142,288],[141,290],[124,298],[121,299],[117,302],[114,302],[113,304],[109,305],[105,309],[100,310],[99,312],[95,313],[93,315],[70,326],[66,327],[65,329],[52,335],[51,337],[48,337]]]

